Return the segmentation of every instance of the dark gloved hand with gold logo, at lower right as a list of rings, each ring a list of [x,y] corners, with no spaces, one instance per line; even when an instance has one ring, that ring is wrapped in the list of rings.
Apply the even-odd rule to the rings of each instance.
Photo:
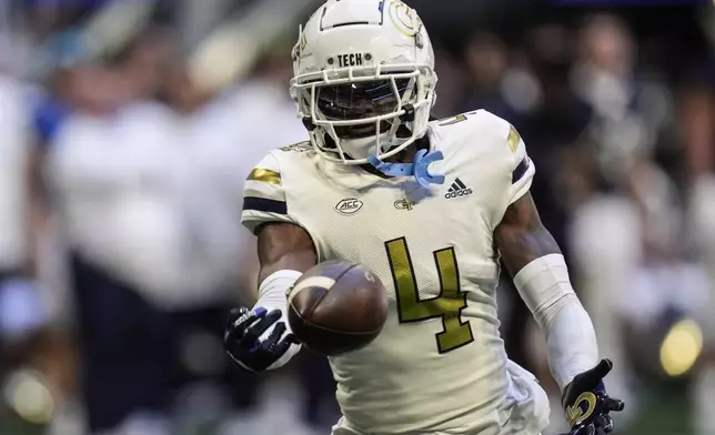
[[[594,368],[584,372],[571,382],[563,395],[566,419],[571,425],[568,435],[596,435],[613,432],[612,411],[623,411],[624,403],[606,394],[603,378],[613,363],[601,360]]]

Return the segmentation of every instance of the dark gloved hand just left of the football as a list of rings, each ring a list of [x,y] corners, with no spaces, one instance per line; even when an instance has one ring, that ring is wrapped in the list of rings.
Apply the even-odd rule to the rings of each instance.
[[[231,360],[251,372],[263,372],[285,364],[300,350],[300,343],[288,332],[281,317],[280,310],[231,310],[223,335],[223,344]]]

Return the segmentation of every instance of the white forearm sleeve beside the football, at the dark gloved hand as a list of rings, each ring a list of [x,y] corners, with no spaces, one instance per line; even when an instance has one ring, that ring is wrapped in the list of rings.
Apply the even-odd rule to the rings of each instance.
[[[283,333],[283,336],[293,332],[290,323],[288,322],[288,291],[293,286],[293,284],[295,284],[301,275],[302,273],[298,271],[278,271],[263,280],[259,287],[259,301],[255,303],[254,308],[262,306],[268,311],[280,310],[281,320],[279,322],[285,323],[285,333]],[[275,324],[261,334],[259,338],[268,338],[274,328]],[[282,367],[293,357],[293,355],[300,352],[300,350],[301,346],[299,344],[292,344],[288,352],[285,352],[285,354],[283,354],[283,356],[281,356],[281,358],[275,363],[271,364],[268,370]]]

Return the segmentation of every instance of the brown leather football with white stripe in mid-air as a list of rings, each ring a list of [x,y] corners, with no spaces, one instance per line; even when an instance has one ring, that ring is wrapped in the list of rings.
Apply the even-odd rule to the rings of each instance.
[[[370,344],[387,318],[387,296],[377,276],[345,261],[320,263],[305,272],[288,294],[293,334],[308,348],[326,356]]]

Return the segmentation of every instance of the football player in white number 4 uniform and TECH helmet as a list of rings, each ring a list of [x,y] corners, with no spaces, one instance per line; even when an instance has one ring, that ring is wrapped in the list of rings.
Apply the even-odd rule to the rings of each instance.
[[[577,435],[611,432],[611,362],[528,193],[516,130],[477,110],[431,121],[434,53],[399,0],[329,0],[300,31],[291,91],[310,142],[275,150],[245,184],[259,301],[234,311],[230,356],[282,366],[300,345],[286,291],[318,262],[366,265],[391,313],[369,346],[330,358],[343,417],[333,435],[540,434],[548,402],[504,352],[499,259],[543,328]]]

